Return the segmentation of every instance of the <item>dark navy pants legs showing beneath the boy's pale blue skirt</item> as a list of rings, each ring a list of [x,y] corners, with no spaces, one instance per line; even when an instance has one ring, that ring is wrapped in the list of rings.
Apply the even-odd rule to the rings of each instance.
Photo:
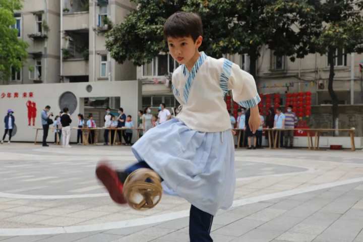
[[[137,162],[129,166],[125,172],[130,174],[131,172],[139,168],[150,168],[145,162]],[[213,223],[213,215],[206,213],[195,206],[191,206],[189,214],[189,237],[190,242],[212,242],[213,239],[210,236],[210,230]]]

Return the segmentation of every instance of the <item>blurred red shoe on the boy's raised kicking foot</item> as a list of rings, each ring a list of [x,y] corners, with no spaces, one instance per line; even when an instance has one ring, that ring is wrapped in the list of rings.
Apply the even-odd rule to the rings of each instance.
[[[106,187],[111,199],[115,203],[125,204],[126,199],[123,194],[124,184],[118,179],[117,173],[106,163],[100,163],[96,168],[96,176]]]

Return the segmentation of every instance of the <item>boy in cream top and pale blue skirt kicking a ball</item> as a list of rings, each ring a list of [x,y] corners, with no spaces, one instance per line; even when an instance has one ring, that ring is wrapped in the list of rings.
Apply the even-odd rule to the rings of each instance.
[[[192,204],[191,242],[213,241],[213,216],[233,202],[234,144],[224,102],[228,90],[239,105],[251,108],[252,132],[260,125],[260,97],[254,78],[225,58],[199,52],[202,32],[202,21],[196,14],[178,12],[166,20],[169,53],[180,64],[172,75],[172,91],[181,110],[176,118],[149,130],[133,145],[138,163],[124,171],[105,163],[96,168],[97,177],[117,203],[126,203],[123,183],[131,172],[153,169],[168,189]]]

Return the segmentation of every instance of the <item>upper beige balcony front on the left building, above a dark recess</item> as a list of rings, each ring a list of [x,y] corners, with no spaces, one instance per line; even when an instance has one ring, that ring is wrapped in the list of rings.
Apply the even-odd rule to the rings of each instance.
[[[65,14],[63,16],[63,29],[65,31],[88,32],[89,29],[88,18],[89,18],[88,12]]]

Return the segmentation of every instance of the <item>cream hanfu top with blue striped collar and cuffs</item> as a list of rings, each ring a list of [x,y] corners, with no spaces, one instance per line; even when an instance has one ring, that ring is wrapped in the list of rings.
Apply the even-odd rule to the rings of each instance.
[[[185,65],[172,75],[172,91],[182,105],[177,118],[190,129],[222,132],[231,129],[224,96],[232,90],[233,100],[246,108],[260,102],[252,75],[228,59],[200,53],[191,72]]]

